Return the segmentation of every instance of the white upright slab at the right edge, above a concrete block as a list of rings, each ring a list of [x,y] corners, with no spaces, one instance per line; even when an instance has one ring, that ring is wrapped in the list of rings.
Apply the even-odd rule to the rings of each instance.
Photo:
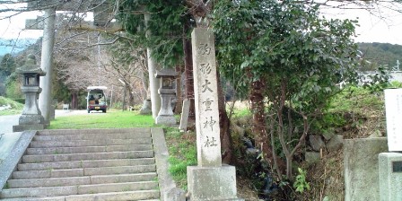
[[[389,152],[402,151],[402,89],[388,89],[385,94]]]

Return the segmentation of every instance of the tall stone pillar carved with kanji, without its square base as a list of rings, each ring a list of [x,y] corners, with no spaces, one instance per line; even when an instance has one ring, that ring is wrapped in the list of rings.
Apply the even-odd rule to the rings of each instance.
[[[199,166],[222,166],[214,34],[196,28],[191,34]]]

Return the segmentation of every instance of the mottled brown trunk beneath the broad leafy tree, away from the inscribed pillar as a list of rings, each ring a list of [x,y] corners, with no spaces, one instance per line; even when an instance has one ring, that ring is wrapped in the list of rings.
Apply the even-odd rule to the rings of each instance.
[[[270,139],[267,135],[267,121],[264,106],[265,84],[261,80],[251,83],[249,100],[251,101],[251,112],[253,113],[253,123],[251,131],[254,134],[255,146],[263,152],[267,162],[273,162]]]

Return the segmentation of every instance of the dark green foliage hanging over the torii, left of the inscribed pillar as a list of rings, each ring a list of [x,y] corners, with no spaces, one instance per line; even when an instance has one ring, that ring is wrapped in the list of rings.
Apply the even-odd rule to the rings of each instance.
[[[152,14],[147,26],[145,12]],[[127,32],[139,36],[145,47],[153,48],[153,57],[162,66],[170,67],[183,63],[183,24],[189,19],[186,12],[181,0],[124,1],[119,4],[118,19]],[[148,38],[146,31],[151,31]]]

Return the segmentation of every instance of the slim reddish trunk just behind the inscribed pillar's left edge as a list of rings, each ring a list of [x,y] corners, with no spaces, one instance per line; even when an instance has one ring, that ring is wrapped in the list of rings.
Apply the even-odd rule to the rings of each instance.
[[[188,119],[196,120],[196,106],[194,103],[194,79],[193,79],[193,54],[191,49],[191,39],[187,37],[190,25],[186,23],[183,30],[183,49],[184,49],[184,79],[185,79],[185,98],[190,101]]]

